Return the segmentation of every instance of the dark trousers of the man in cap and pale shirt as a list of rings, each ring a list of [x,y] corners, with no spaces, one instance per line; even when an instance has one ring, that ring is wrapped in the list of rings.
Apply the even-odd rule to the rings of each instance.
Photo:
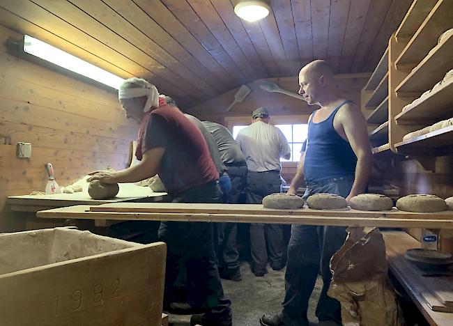
[[[246,185],[247,203],[261,204],[268,194],[280,192],[281,185],[279,171],[249,171]],[[250,249],[254,270],[266,270],[268,260],[270,263],[282,263],[284,253],[282,228],[278,224],[250,224]]]

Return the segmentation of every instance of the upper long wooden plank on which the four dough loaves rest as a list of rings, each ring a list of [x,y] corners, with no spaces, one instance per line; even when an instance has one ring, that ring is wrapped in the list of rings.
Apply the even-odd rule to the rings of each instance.
[[[206,214],[255,214],[255,215],[312,215],[329,217],[394,217],[420,218],[429,216],[433,219],[453,219],[453,212],[404,212],[392,208],[386,211],[365,211],[344,208],[341,210],[313,210],[307,208],[298,210],[275,210],[263,208],[260,204],[217,204],[217,203],[115,203],[95,206],[93,212],[172,212],[172,213],[206,213]]]

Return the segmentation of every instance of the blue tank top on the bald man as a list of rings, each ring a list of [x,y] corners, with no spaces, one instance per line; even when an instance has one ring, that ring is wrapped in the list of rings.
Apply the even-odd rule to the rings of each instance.
[[[333,119],[344,101],[320,123],[308,123],[308,144],[305,152],[304,174],[307,182],[328,178],[354,176],[357,157],[348,141],[345,141],[333,127]],[[315,111],[316,112],[316,111]]]

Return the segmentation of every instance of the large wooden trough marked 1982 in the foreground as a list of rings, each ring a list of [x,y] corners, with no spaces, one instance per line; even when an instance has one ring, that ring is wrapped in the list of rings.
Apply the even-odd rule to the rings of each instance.
[[[0,235],[0,325],[160,326],[167,247],[73,228]]]

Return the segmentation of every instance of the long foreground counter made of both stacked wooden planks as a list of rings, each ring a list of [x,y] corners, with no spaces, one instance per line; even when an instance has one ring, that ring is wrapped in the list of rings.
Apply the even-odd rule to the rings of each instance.
[[[415,213],[394,208],[385,212],[342,210],[272,210],[262,205],[206,203],[110,203],[43,210],[38,217],[181,222],[237,222],[390,228],[453,228],[453,212]]]

